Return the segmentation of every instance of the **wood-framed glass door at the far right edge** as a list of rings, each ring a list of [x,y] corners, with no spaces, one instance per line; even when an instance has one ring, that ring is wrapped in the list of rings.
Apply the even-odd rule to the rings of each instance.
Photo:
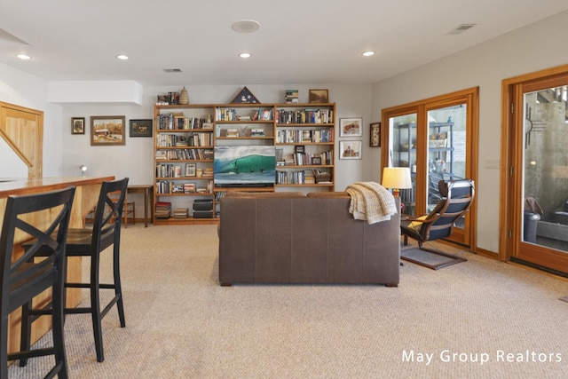
[[[568,67],[504,82],[504,258],[568,274]],[[506,217],[506,215],[510,215]]]

